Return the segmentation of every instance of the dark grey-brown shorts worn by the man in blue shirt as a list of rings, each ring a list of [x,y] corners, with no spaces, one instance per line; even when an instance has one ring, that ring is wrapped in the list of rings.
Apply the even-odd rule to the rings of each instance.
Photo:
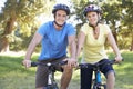
[[[48,60],[41,60],[41,61],[39,60],[39,62],[43,62],[43,63],[52,62],[52,63],[55,63],[55,62],[62,61],[65,58],[66,58],[66,56],[58,58],[58,59],[48,59]],[[59,70],[59,71],[63,71],[62,67],[57,67],[55,69]],[[49,72],[48,67],[44,67],[44,66],[41,66],[41,65],[38,66],[37,75],[35,75],[35,88],[47,86],[47,83],[48,83],[48,72]]]

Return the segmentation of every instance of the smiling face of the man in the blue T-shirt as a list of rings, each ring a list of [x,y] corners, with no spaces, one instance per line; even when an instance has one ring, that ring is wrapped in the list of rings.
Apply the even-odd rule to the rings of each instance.
[[[66,12],[64,10],[58,10],[55,12],[54,20],[60,26],[64,24],[64,22],[66,20]]]

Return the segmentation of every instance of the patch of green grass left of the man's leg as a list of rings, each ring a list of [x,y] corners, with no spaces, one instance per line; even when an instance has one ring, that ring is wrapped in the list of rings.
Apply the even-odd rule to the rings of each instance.
[[[22,66],[23,57],[0,56],[0,89],[33,89],[34,68]],[[27,81],[28,80],[28,81]]]

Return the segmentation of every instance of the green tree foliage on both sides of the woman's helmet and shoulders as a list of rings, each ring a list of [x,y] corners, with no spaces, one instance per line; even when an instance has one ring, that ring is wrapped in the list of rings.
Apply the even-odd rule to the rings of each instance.
[[[78,22],[82,21],[76,24],[78,32],[80,31],[80,27],[86,22],[82,11],[84,7],[90,3],[95,3],[102,8],[102,21],[111,27],[114,38],[121,49],[127,49],[133,46],[132,0],[73,0],[75,9],[74,14],[76,14],[75,20]]]

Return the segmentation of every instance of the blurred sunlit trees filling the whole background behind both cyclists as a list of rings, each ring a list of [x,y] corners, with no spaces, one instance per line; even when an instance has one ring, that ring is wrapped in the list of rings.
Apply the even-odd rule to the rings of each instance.
[[[7,0],[0,12],[0,52],[25,50],[41,22],[53,18],[54,3],[55,0]],[[110,26],[120,49],[132,51],[133,0],[71,0],[69,22],[75,26],[76,34],[88,22],[83,9],[90,3],[101,7],[101,21]]]

